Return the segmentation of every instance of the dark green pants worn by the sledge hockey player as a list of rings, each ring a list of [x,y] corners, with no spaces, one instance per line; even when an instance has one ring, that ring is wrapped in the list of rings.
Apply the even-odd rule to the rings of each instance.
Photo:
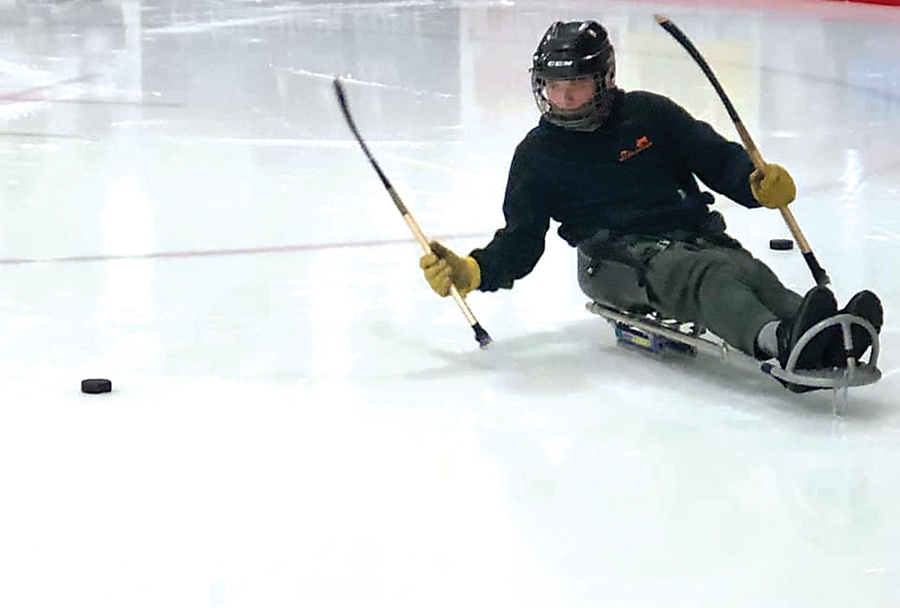
[[[608,256],[604,253],[609,251],[616,251],[613,257],[617,259],[605,262]],[[616,268],[621,275],[623,266],[635,270],[633,280],[662,316],[700,324],[751,356],[756,354],[756,336],[763,325],[790,318],[803,299],[728,237],[719,242],[626,237],[611,247],[597,247],[596,243],[579,246],[582,290],[596,300],[639,310],[639,306],[606,297],[611,285],[604,284],[605,279],[615,274]],[[623,283],[621,289],[624,293],[629,287]]]

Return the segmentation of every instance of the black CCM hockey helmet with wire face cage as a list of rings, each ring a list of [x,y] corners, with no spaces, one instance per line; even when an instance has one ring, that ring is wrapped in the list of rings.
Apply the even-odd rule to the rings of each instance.
[[[594,98],[574,110],[554,107],[547,98],[551,80],[593,78]],[[531,61],[531,90],[541,115],[575,131],[593,131],[612,111],[616,56],[606,29],[596,21],[557,21],[541,38]]]

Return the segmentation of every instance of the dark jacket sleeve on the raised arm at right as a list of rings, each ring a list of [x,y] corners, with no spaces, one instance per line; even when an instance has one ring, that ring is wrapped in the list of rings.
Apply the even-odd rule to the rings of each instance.
[[[744,207],[760,206],[750,191],[754,167],[743,146],[728,141],[674,101],[669,100],[665,116],[672,143],[689,171],[712,190]]]

